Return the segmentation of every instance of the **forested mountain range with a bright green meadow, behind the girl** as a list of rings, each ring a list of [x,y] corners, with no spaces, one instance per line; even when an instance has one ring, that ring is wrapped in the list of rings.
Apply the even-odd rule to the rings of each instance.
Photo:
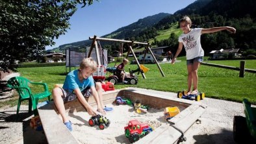
[[[148,16],[101,37],[138,42],[149,41],[152,45],[169,45],[172,49],[177,49],[175,38],[181,34],[177,21],[187,15],[192,19],[192,27],[209,28],[227,25],[237,29],[237,34],[229,34],[225,30],[214,34],[203,34],[201,42],[203,47],[207,47],[206,54],[211,50],[233,47],[247,51],[255,49],[256,45],[255,6],[255,0],[198,0],[177,10],[174,14],[160,13]],[[81,47],[82,45],[84,47],[90,43],[90,40],[69,43],[60,45],[60,49]],[[101,43],[101,46],[109,49],[110,52],[118,50],[119,47],[116,43]]]

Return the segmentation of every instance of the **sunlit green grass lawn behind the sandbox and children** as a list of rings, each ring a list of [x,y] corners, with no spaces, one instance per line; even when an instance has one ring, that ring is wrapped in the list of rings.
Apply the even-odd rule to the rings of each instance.
[[[178,60],[182,61],[174,65],[170,63],[160,64],[165,77],[162,77],[156,64],[144,64],[144,66],[149,68],[149,71],[145,74],[146,79],[142,78],[142,75],[138,75],[139,82],[137,85],[134,85],[134,87],[172,91],[175,93],[177,93],[177,91],[186,90],[186,61],[184,57],[178,58]],[[240,61],[224,60],[211,61],[211,63],[238,67]],[[112,65],[114,65],[114,63],[110,64],[110,66]],[[125,66],[125,69],[128,70],[129,67],[136,69],[136,65]],[[256,60],[246,60],[246,68],[256,69]],[[55,84],[62,84],[66,76],[64,66],[19,68],[18,71],[21,73],[21,76],[27,77],[34,82],[46,82],[50,90]],[[247,98],[250,102],[256,104],[256,74],[245,73],[245,77],[240,78],[239,71],[200,66],[198,76],[199,91],[205,92],[206,97],[238,102]],[[128,86],[131,85],[119,84],[115,85],[115,88],[120,89]],[[39,89],[36,88],[36,90]]]

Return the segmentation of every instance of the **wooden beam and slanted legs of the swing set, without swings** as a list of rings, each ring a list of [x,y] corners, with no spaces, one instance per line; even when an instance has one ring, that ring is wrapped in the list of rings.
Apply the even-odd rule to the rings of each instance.
[[[126,58],[128,58],[129,54],[132,53],[133,54],[133,57],[134,57],[134,60],[136,61],[136,64],[138,66],[138,68],[140,68],[140,73],[142,74],[142,77],[143,78],[146,78],[145,76],[145,71],[147,70],[146,67],[144,67],[143,65],[141,65],[139,62],[138,62],[138,59],[136,58],[136,55],[134,54],[134,51],[133,51],[133,44],[141,44],[141,45],[145,45],[146,47],[146,52],[149,52],[152,54],[156,64],[157,64],[157,67],[159,68],[159,71],[160,73],[162,74],[162,77],[165,77],[164,75],[164,72],[162,71],[161,67],[159,66],[159,63],[157,62],[157,59],[155,58],[154,54],[152,53],[151,49],[150,49],[150,43],[142,43],[142,42],[134,42],[134,41],[129,41],[129,40],[118,40],[118,39],[112,39],[112,38],[99,38],[97,36],[94,36],[94,37],[89,37],[89,40],[92,40],[92,44],[91,44],[91,47],[90,47],[90,51],[88,53],[88,57],[90,57],[91,53],[92,53],[92,50],[94,49],[94,47],[96,48],[96,54],[97,54],[97,65],[98,66],[101,66],[101,60],[99,58],[99,47],[98,47],[98,44],[97,44],[97,41],[110,41],[110,42],[122,42],[122,43],[128,43],[129,44],[129,50],[127,52],[127,55],[126,55]],[[145,59],[145,56],[146,56],[146,53],[144,54],[144,59]],[[144,62],[144,59],[143,59],[143,62]]]

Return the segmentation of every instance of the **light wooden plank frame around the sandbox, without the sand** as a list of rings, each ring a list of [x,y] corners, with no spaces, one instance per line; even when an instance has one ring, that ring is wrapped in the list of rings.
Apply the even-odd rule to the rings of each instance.
[[[136,143],[175,143],[179,138],[181,138],[182,133],[184,134],[207,108],[207,106],[201,102],[178,99],[171,97],[170,95],[150,93],[136,89],[133,90],[133,88],[106,91],[103,93],[104,104],[114,102],[117,96],[123,96],[131,99],[132,101],[140,100],[140,102],[147,104],[151,108],[160,109],[167,106],[181,106],[185,108],[185,110],[180,114],[169,120],[173,126],[161,125],[147,136],[144,136],[144,138],[136,141]],[[86,98],[86,101],[88,101],[92,106],[96,105],[93,97]],[[84,110],[78,100],[67,102],[64,105],[66,112],[69,113]],[[63,125],[62,119],[57,114],[53,101],[38,108],[38,113],[44,128],[45,137],[49,144],[78,143],[68,128]]]

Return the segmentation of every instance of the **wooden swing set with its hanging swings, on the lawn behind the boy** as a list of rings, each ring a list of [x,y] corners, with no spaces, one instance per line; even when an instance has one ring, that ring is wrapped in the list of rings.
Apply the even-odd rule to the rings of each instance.
[[[155,60],[156,64],[157,64],[157,67],[159,68],[159,71],[160,73],[162,74],[162,77],[165,77],[161,67],[159,66],[159,63],[157,62],[157,59],[155,58],[154,54],[152,53],[151,49],[150,49],[150,43],[143,43],[143,42],[134,42],[134,41],[129,41],[129,40],[118,40],[118,39],[112,39],[112,38],[99,38],[97,36],[94,36],[94,37],[89,37],[89,40],[92,40],[92,44],[90,46],[90,50],[89,50],[89,53],[88,53],[88,58],[91,56],[92,54],[92,50],[96,49],[96,62],[97,62],[97,66],[98,67],[103,67],[103,64],[101,62],[104,61],[104,58],[106,58],[104,56],[104,54],[102,54],[102,58],[100,58],[100,53],[102,53],[102,48],[101,48],[101,45],[100,43],[97,43],[99,41],[109,41],[109,42],[121,42],[121,48],[123,47],[123,43],[127,43],[129,45],[129,49],[127,51],[127,55],[125,56],[125,58],[128,58],[129,54],[132,53],[133,54],[133,57],[134,57],[134,60],[136,62],[136,65],[138,66],[138,69],[134,70],[133,73],[135,73],[135,71],[138,71],[138,73],[141,73],[142,74],[142,77],[143,78],[146,78],[145,76],[145,73],[149,70],[147,69],[147,67],[145,67],[144,65],[140,64],[138,62],[138,59],[136,58],[136,55],[134,54],[134,51],[133,51],[133,44],[141,44],[141,45],[145,45],[146,47],[146,53],[144,53],[144,58],[142,60],[142,62],[144,63],[144,60],[145,60],[145,57],[146,57],[146,54],[149,52],[152,54],[152,57],[153,59]],[[120,48],[120,49],[121,49]],[[122,49],[123,50],[123,49]],[[120,50],[121,51],[121,50]],[[122,53],[122,51],[121,51]],[[116,64],[115,64],[116,65]],[[109,66],[109,65],[108,65]],[[104,73],[104,70],[102,71],[102,78],[104,77],[105,78],[105,73]]]

